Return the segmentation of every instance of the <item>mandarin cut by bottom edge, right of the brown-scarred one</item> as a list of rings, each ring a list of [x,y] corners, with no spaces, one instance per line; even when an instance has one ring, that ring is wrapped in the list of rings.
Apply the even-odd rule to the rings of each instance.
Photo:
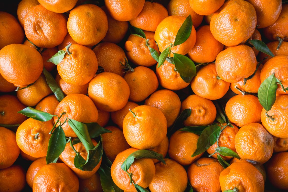
[[[246,162],[232,163],[220,173],[219,180],[222,191],[233,190],[235,187],[239,192],[264,191],[262,174],[257,168]]]

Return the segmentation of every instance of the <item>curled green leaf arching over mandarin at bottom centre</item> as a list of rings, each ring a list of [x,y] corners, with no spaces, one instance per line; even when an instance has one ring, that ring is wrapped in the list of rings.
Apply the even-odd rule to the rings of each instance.
[[[124,171],[127,171],[135,159],[141,159],[141,158],[151,158],[151,159],[158,159],[162,163],[166,164],[163,155],[156,153],[155,151],[140,149],[138,151],[135,151],[131,153],[125,161],[122,163],[121,168]]]

